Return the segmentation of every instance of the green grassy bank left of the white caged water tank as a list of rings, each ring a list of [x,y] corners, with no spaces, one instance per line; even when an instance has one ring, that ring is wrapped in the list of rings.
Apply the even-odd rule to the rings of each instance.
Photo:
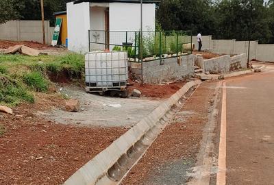
[[[33,91],[47,92],[49,74],[65,71],[73,82],[84,83],[84,56],[68,53],[64,56],[23,56],[0,54],[0,103],[17,106],[22,101],[34,103]]]

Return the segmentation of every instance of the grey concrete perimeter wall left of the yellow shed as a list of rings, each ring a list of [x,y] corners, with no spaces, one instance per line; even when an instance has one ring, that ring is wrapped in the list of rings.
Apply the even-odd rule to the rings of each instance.
[[[54,27],[45,21],[46,44],[51,44]],[[0,25],[0,39],[13,41],[36,41],[43,42],[42,21],[8,21]]]

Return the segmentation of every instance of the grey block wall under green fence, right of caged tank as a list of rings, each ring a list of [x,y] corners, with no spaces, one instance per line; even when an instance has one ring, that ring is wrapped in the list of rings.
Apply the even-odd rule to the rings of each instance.
[[[151,62],[143,62],[143,80],[148,84],[160,84],[194,74],[194,55],[165,58]],[[140,77],[140,62],[130,62],[132,72]]]

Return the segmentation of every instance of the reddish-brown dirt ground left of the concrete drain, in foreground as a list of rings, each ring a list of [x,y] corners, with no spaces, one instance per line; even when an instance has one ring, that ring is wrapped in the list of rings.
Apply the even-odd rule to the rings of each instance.
[[[64,100],[45,94],[36,99],[14,108],[14,115],[0,114],[5,127],[0,136],[0,184],[62,184],[127,130],[48,121],[37,111],[60,107]]]

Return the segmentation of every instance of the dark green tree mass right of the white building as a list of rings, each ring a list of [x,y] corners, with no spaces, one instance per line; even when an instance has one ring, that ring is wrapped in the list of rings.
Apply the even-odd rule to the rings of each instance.
[[[191,29],[214,38],[274,42],[274,1],[162,0],[157,18],[163,29]]]

